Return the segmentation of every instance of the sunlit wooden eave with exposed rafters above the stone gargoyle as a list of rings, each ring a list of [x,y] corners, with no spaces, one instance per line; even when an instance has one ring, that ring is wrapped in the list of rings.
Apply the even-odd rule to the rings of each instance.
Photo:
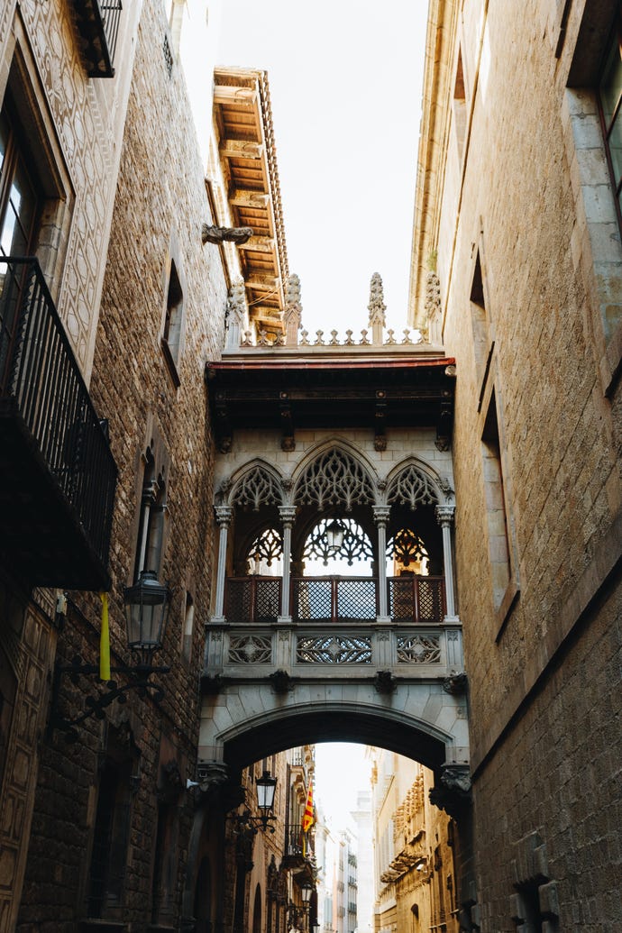
[[[238,246],[250,318],[283,332],[287,252],[266,72],[216,68],[214,123],[233,224],[254,231]]]

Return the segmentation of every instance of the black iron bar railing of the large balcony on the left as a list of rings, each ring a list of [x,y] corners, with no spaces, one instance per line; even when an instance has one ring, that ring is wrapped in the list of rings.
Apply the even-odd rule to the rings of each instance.
[[[117,466],[35,258],[0,257],[0,400],[108,559]]]

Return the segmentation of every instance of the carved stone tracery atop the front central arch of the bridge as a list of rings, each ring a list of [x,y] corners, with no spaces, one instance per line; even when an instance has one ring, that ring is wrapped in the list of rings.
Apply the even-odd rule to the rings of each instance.
[[[297,480],[295,502],[319,511],[371,504],[374,487],[364,466],[350,453],[332,447],[320,453]]]

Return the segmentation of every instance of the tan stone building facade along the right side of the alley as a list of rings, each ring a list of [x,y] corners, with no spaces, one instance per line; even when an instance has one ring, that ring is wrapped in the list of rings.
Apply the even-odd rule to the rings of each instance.
[[[619,29],[430,4],[411,304],[456,358],[469,929],[621,920]]]

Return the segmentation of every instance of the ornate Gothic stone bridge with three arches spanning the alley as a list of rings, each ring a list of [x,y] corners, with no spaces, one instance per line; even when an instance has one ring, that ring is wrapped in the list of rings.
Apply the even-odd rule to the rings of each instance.
[[[208,367],[219,550],[201,780],[339,739],[421,760],[439,792],[468,787],[453,360],[382,343],[373,314],[370,330],[294,344],[290,322],[273,343],[230,339]]]

